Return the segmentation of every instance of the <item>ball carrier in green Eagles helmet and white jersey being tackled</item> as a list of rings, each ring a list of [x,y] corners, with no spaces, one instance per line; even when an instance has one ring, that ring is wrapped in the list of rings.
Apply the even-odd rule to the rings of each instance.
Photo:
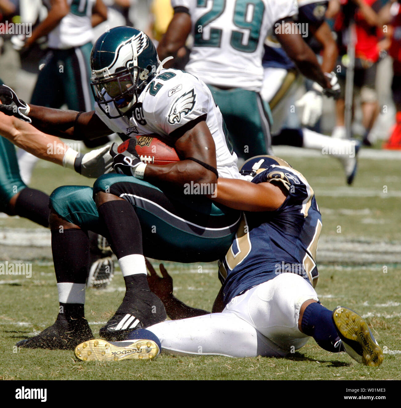
[[[104,33],[93,47],[91,67],[95,111],[30,106],[29,118],[47,133],[67,138],[83,140],[117,131],[129,139],[111,149],[114,168],[125,174],[104,175],[93,189],[65,186],[51,195],[62,313],[43,333],[20,342],[21,347],[74,348],[92,338],[84,318],[86,231],[108,239],[126,283],[120,308],[100,330],[115,340],[166,317],[162,302],[148,289],[143,254],[183,262],[218,259],[240,222],[238,211],[213,204],[206,196],[185,194],[190,182],[213,188],[218,176],[241,177],[222,115],[206,85],[189,73],[162,69],[153,43],[131,27]],[[140,161],[133,136],[154,132],[174,145],[181,161],[164,166]],[[76,153],[67,151],[64,157],[71,165]]]

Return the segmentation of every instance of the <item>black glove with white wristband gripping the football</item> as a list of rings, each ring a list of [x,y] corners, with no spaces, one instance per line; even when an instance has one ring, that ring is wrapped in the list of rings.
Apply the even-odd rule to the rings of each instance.
[[[117,143],[111,145],[110,154],[113,157],[113,169],[117,173],[143,179],[146,164],[141,162],[135,145],[135,137],[126,140],[118,147]]]

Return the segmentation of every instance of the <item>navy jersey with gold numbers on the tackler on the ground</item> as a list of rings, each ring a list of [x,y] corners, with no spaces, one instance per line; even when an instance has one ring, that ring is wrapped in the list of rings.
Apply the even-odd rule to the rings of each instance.
[[[227,304],[244,291],[280,273],[297,273],[317,283],[315,257],[321,214],[305,177],[286,165],[273,165],[253,183],[282,184],[288,195],[275,211],[244,212],[235,240],[220,262],[219,278]]]

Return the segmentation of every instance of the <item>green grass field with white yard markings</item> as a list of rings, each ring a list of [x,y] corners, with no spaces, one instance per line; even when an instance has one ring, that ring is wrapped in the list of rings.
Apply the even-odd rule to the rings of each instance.
[[[401,379],[401,175],[399,160],[359,161],[354,186],[330,157],[281,155],[312,185],[323,217],[318,249],[317,293],[324,306],[348,306],[361,314],[383,347],[379,368],[357,364],[345,353],[322,350],[313,339],[285,359],[175,357],[155,361],[84,363],[71,351],[18,350],[20,339],[53,324],[57,289],[49,248],[0,244],[0,262],[32,263],[32,277],[0,276],[0,375],[2,379]],[[72,171],[41,162],[32,187],[50,193],[61,184],[89,184]],[[383,192],[384,191],[384,192]],[[5,228],[38,228],[22,219],[0,218]],[[26,230],[18,230],[23,231]],[[157,261],[154,262],[157,265]],[[211,309],[219,290],[215,264],[166,263],[174,293],[190,306]],[[106,290],[88,290],[86,317],[95,336],[119,306],[124,281],[117,270]]]

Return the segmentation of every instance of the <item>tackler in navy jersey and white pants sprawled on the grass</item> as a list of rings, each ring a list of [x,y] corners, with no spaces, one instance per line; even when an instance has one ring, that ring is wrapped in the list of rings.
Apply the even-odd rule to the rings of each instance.
[[[87,341],[75,348],[84,361],[151,359],[159,350],[179,355],[284,357],[313,337],[332,353],[379,366],[383,352],[357,313],[323,307],[314,286],[321,215],[301,173],[272,156],[245,162],[248,180],[219,178],[215,202],[243,210],[242,222],[219,268],[222,288],[213,313],[188,307],[173,282],[148,263],[151,288],[172,320],[135,330],[124,341]],[[267,251],[266,248],[269,248]]]

